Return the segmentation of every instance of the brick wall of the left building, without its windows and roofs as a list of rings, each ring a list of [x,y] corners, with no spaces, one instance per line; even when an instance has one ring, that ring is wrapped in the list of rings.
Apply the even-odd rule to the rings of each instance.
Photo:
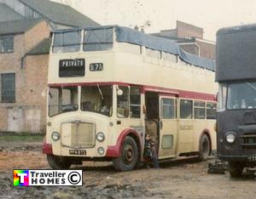
[[[15,103],[0,103],[0,131],[43,132],[49,55],[26,56],[26,52],[49,37],[49,26],[43,20],[25,34],[15,35],[14,52],[0,54],[0,74],[15,72]],[[1,94],[1,92],[0,92]]]

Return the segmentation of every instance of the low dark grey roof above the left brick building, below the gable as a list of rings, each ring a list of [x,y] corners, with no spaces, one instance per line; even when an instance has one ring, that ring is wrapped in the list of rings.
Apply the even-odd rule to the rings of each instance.
[[[20,34],[36,26],[42,19],[38,20],[10,20],[0,21],[0,35]]]

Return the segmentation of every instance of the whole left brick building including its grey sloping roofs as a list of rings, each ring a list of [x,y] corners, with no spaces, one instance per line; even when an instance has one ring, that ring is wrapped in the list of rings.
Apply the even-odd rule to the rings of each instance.
[[[0,131],[44,132],[50,32],[98,25],[49,0],[0,0]]]

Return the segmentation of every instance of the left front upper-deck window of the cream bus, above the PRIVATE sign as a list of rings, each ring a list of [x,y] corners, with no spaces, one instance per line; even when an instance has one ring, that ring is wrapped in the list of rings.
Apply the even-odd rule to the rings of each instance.
[[[56,32],[53,53],[78,52],[81,43],[81,31]]]

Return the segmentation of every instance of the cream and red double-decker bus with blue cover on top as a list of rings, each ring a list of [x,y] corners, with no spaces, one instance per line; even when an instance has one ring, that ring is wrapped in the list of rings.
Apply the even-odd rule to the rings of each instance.
[[[145,134],[158,159],[216,149],[214,63],[172,41],[121,26],[55,31],[49,54],[47,133],[51,168],[144,161]]]

